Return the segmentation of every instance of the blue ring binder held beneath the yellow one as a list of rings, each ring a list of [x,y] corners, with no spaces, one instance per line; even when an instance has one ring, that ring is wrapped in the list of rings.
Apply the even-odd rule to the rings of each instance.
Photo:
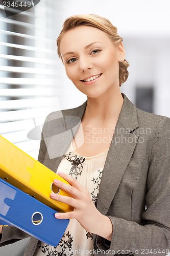
[[[57,246],[69,220],[54,217],[57,211],[0,179],[1,223],[13,225],[38,240]],[[1,224],[4,225],[4,224]]]

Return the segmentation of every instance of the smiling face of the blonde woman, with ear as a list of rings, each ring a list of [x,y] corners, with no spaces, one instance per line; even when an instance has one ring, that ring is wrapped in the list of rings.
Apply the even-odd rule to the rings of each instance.
[[[68,78],[87,97],[119,90],[119,61],[125,58],[122,43],[114,45],[100,29],[80,26],[67,31],[60,52]]]

